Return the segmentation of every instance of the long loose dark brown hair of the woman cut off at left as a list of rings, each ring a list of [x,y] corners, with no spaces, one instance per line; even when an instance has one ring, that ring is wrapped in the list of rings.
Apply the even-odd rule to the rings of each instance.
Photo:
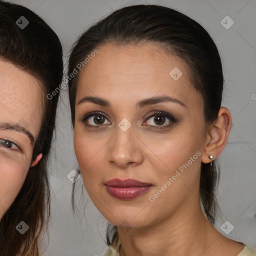
[[[24,16],[29,24],[21,29],[16,20]],[[0,220],[0,255],[38,255],[38,239],[49,218],[49,184],[46,160],[49,154],[58,95],[46,98],[62,80],[62,47],[58,36],[38,15],[18,4],[0,0],[0,59],[8,61],[40,81],[43,118],[35,141],[24,184],[14,202]],[[29,229],[20,234],[15,226],[23,220]]]

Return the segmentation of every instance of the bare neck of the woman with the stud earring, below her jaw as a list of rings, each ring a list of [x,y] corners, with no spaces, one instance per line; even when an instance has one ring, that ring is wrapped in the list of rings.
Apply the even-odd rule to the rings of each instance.
[[[223,236],[204,216],[199,201],[188,204],[151,226],[118,230],[120,256],[211,255]]]

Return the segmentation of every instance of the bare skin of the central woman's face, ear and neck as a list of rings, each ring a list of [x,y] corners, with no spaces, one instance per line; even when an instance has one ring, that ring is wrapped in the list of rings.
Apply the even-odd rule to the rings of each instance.
[[[221,107],[217,121],[206,125],[203,101],[190,84],[185,62],[157,45],[97,48],[99,52],[78,77],[74,149],[88,195],[104,217],[118,226],[120,255],[238,254],[243,245],[216,231],[199,202],[200,164],[210,162],[210,154],[215,159],[224,148],[231,128],[228,109]],[[183,73],[177,80],[169,75],[174,67]],[[186,106],[160,102],[136,108],[139,100],[163,95]],[[104,98],[110,107],[78,104],[84,96]],[[157,129],[160,125],[154,116],[148,118],[154,110],[171,114],[176,122],[166,117],[165,128]],[[93,116],[81,121],[92,111],[102,112],[103,124],[95,123]],[[123,118],[131,123],[127,131],[118,126]],[[196,152],[200,155],[189,167],[149,201]],[[152,187],[136,198],[120,200],[106,191],[104,183],[112,178],[134,178]]]

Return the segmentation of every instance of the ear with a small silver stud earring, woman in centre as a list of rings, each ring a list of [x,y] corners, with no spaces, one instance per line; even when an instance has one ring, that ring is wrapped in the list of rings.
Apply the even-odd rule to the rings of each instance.
[[[201,157],[201,161],[203,163],[211,162],[221,153],[227,142],[231,124],[232,118],[229,110],[226,107],[220,107],[218,111],[218,118],[210,125],[206,136],[204,150]],[[208,158],[209,155],[213,156],[212,160]]]

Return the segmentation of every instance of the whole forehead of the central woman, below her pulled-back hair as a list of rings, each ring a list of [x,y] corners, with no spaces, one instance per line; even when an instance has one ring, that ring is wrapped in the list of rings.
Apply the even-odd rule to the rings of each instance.
[[[156,44],[104,44],[81,69],[76,102],[81,94],[116,96],[127,100],[167,93],[187,100],[194,91],[187,64]],[[173,72],[178,79],[173,79]],[[174,76],[175,78],[175,76]],[[196,95],[194,95],[196,96]],[[124,99],[124,98],[123,98]]]

